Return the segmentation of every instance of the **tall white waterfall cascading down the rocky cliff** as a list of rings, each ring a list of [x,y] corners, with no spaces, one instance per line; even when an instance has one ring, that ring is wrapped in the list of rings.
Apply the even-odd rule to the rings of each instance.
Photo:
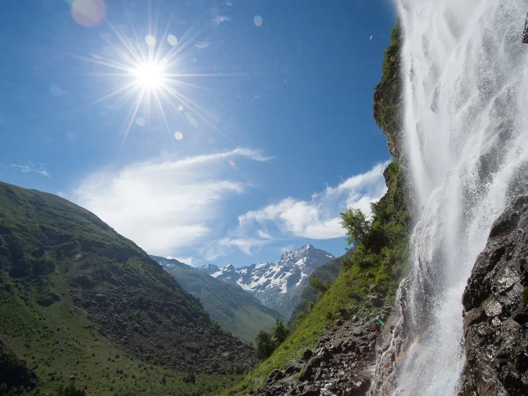
[[[491,224],[528,192],[528,3],[397,0],[406,153],[421,210],[394,395],[456,395],[461,297]]]

